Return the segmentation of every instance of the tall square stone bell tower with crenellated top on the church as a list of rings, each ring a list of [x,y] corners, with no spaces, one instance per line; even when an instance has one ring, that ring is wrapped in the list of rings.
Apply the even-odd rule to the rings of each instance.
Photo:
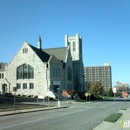
[[[70,52],[73,61],[73,85],[75,90],[84,90],[84,72],[82,61],[82,37],[79,34],[69,37],[65,35],[65,46],[70,47]]]

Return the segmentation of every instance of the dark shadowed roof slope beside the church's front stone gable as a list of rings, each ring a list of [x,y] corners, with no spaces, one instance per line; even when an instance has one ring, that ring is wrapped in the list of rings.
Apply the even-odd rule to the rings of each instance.
[[[47,54],[46,52],[42,51],[41,49],[38,49],[30,44],[28,44],[33,51],[37,54],[37,56],[41,59],[42,62],[48,62],[51,55]]]

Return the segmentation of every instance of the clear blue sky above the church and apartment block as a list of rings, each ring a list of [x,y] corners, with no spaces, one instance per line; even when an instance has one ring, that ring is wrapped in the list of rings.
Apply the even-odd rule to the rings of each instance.
[[[0,0],[0,61],[9,63],[26,40],[63,47],[82,36],[84,66],[112,67],[112,83],[130,84],[130,0]]]

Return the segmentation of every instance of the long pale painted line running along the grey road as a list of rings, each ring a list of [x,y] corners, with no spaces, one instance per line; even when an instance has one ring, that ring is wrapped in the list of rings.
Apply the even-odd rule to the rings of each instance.
[[[83,111],[86,111],[86,110],[79,110],[79,111],[70,112],[70,113],[66,113],[66,114],[61,114],[61,115],[57,115],[57,116],[51,116],[51,117],[47,117],[47,118],[41,118],[41,119],[38,119],[38,120],[33,120],[33,121],[18,123],[18,124],[15,124],[15,125],[9,125],[9,126],[5,126],[5,127],[1,127],[0,130],[1,129],[6,129],[6,128],[10,128],[10,127],[19,126],[19,125],[29,124],[29,123],[32,123],[32,122],[37,122],[37,121],[40,121],[40,120],[46,120],[46,119],[60,117],[60,116],[67,116],[69,114],[74,114],[74,113],[83,112]]]

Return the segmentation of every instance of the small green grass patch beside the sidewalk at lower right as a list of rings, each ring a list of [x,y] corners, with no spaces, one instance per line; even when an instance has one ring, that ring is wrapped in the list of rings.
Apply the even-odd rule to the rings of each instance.
[[[111,114],[110,116],[108,116],[107,118],[104,119],[104,121],[107,121],[107,122],[116,122],[120,117],[122,116],[122,113],[117,113],[117,116],[116,114]]]

